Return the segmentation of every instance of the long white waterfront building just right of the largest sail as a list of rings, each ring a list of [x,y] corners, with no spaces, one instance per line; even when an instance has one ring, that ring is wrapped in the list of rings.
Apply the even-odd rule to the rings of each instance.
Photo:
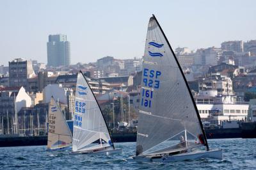
[[[200,91],[195,97],[196,107],[202,121],[221,125],[222,121],[246,121],[248,102],[237,102],[236,96],[218,95],[218,91]]]

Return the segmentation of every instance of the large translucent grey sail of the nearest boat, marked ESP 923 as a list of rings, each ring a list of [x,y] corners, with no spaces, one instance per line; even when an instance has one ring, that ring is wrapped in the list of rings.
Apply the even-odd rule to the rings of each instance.
[[[180,133],[195,143],[204,135],[197,114],[175,54],[156,18],[151,17],[143,57],[136,155],[143,155]],[[191,133],[188,138],[186,130]],[[177,147],[183,147],[179,140]]]

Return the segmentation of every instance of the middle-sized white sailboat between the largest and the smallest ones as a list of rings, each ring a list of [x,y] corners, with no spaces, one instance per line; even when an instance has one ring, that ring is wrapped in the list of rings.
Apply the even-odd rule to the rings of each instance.
[[[122,153],[115,148],[99,104],[82,72],[77,73],[72,153]]]

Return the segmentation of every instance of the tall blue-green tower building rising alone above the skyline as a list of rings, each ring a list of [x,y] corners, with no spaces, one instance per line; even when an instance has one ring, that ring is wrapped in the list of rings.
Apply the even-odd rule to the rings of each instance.
[[[67,41],[67,35],[49,35],[49,42],[47,42],[47,65],[70,65],[70,42]]]

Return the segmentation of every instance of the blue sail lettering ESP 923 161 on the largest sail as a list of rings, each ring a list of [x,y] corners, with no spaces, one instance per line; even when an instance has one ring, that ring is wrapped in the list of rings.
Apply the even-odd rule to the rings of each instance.
[[[143,86],[145,88],[141,88],[141,106],[152,106],[151,99],[153,98],[154,95],[154,89],[159,89],[160,87],[160,76],[160,71],[149,70],[148,68],[143,69]]]

